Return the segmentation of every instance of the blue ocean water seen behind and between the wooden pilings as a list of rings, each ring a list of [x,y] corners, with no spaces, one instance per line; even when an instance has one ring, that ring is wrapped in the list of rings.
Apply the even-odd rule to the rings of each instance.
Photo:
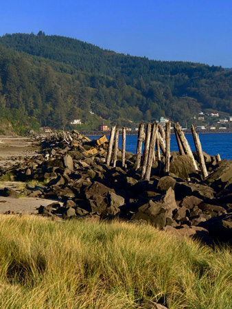
[[[98,136],[99,137],[99,136]],[[96,139],[97,136],[89,136],[90,139]],[[106,136],[109,139],[109,136]],[[192,134],[185,134],[189,141],[192,151],[196,151]],[[232,133],[202,133],[199,134],[202,150],[208,155],[215,156],[219,153],[222,159],[232,160]],[[126,136],[126,151],[135,153],[137,147],[137,135]],[[119,135],[119,148],[121,148],[121,135]],[[176,137],[171,135],[171,151],[178,151]]]

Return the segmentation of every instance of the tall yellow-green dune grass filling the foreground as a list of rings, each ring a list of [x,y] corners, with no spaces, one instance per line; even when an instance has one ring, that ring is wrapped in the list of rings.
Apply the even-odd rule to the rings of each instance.
[[[231,309],[232,254],[149,226],[1,217],[0,308]]]

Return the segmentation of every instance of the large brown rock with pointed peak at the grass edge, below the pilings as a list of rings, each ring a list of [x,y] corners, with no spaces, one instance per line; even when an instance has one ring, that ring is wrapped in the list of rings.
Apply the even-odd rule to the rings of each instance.
[[[172,218],[172,211],[176,208],[174,190],[170,187],[165,194],[139,207],[137,213],[132,216],[132,220],[143,219],[154,227],[162,229],[165,227],[167,217]]]

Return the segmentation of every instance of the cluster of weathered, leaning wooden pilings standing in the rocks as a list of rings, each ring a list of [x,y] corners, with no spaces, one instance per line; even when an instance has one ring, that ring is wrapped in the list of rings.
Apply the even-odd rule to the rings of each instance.
[[[198,156],[198,162],[200,164],[200,170],[202,176],[205,178],[208,176],[207,168],[205,165],[205,159],[202,152],[202,147],[200,144],[200,139],[194,126],[192,125],[192,135],[194,137],[194,144],[196,148],[196,153]],[[136,152],[136,162],[135,170],[141,173],[141,179],[146,181],[150,180],[150,174],[152,170],[152,164],[156,161],[158,166],[161,166],[161,152],[163,152],[163,157],[165,157],[165,174],[168,175],[170,172],[170,139],[171,139],[171,123],[166,122],[165,130],[163,126],[157,124],[157,122],[148,123],[145,131],[143,122],[139,124],[139,132],[137,139],[137,152]],[[178,150],[180,155],[189,155],[192,159],[192,163],[196,171],[198,171],[198,165],[189,146],[189,143],[181,129],[181,126],[176,122],[174,124],[174,133],[176,135],[176,141],[178,144]],[[115,143],[113,143],[115,138]],[[108,154],[106,159],[106,164],[110,165],[111,155],[113,151],[113,166],[116,166],[117,162],[117,151],[118,151],[118,139],[119,139],[119,127],[113,126],[111,128],[111,136],[108,144]],[[142,154],[142,146],[143,154]],[[114,150],[113,150],[114,146]],[[122,129],[122,153],[121,161],[122,167],[125,167],[125,153],[126,153],[126,128]],[[217,155],[219,156],[219,155]],[[217,158],[220,161],[220,156]]]

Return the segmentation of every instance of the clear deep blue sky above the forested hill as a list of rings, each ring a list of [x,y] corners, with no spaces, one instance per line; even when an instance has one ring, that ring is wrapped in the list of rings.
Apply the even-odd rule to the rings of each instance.
[[[231,0],[1,1],[0,36],[39,30],[132,56],[232,67]]]

